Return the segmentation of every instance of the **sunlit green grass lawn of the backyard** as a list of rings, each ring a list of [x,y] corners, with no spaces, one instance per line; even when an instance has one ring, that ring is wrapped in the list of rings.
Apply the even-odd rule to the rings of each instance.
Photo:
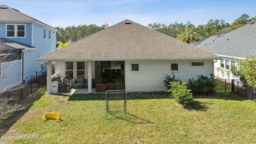
[[[127,120],[124,112],[108,113],[105,120],[105,94],[45,92],[46,88],[37,92],[27,110],[0,120],[1,127],[8,128],[2,136],[30,139],[0,143],[256,143],[256,103],[231,93],[195,96],[190,108],[164,93],[128,93]],[[118,98],[112,102],[123,104]],[[42,121],[44,112],[60,112],[61,120]]]

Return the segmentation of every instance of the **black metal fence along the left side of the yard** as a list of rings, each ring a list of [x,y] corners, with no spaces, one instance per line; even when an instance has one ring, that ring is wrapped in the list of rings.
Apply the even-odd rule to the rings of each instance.
[[[26,84],[22,84],[11,90],[5,91],[0,94],[0,111],[2,113],[8,111],[8,107],[24,100],[27,96],[36,92],[40,87],[46,84],[46,73],[36,73],[38,74],[36,78],[30,80]],[[40,75],[39,75],[40,74]],[[10,98],[14,98],[14,100],[10,100]],[[4,103],[4,101],[9,100],[8,103]]]

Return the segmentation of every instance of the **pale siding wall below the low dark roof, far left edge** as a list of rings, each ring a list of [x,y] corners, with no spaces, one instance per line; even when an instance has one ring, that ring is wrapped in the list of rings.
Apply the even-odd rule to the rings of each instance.
[[[11,85],[22,82],[21,65],[22,60],[3,62],[1,64],[1,91],[12,87]]]

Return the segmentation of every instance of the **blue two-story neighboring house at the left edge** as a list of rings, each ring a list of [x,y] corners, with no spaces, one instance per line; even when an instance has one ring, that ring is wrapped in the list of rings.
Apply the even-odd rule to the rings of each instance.
[[[0,54],[16,57],[1,62],[0,90],[29,81],[46,62],[36,61],[56,48],[56,29],[18,10],[0,5]],[[8,51],[8,52],[9,52]],[[10,56],[7,56],[7,58]]]

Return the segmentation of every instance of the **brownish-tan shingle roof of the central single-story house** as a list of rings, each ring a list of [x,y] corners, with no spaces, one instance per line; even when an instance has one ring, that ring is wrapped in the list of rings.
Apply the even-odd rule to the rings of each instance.
[[[131,24],[126,24],[131,23]],[[195,46],[124,20],[38,60],[218,59]]]

